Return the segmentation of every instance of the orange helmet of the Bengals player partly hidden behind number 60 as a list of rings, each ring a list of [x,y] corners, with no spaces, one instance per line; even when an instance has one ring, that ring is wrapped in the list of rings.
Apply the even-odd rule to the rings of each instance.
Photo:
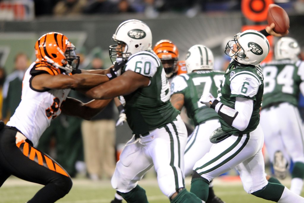
[[[178,71],[178,48],[170,40],[160,40],[153,48],[158,58],[161,59],[166,76],[170,78]]]

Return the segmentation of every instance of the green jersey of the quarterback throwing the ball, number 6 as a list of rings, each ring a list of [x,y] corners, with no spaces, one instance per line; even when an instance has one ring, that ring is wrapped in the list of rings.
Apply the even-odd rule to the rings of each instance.
[[[237,97],[253,100],[253,111],[247,128],[240,131],[227,124],[221,117],[219,119],[222,130],[230,134],[246,134],[257,128],[260,122],[260,107],[263,95],[263,72],[261,66],[244,66],[235,61],[230,62],[221,84],[219,94],[220,102],[235,109]]]

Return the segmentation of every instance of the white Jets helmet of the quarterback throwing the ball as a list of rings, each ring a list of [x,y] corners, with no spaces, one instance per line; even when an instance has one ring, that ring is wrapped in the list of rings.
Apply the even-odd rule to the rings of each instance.
[[[269,53],[268,39],[256,30],[246,30],[227,42],[225,54],[241,64],[259,65]]]

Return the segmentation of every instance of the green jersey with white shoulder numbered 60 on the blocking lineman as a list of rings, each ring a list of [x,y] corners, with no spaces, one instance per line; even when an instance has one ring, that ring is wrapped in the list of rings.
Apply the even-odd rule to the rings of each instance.
[[[179,111],[170,103],[170,85],[160,59],[153,52],[131,55],[122,70],[150,78],[150,84],[124,95],[127,122],[134,134],[147,134],[176,119]]]

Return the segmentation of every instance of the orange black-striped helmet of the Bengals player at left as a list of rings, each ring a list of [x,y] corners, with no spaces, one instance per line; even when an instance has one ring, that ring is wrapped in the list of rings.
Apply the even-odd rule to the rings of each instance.
[[[75,54],[75,46],[69,39],[58,32],[49,32],[42,35],[35,44],[37,60],[46,60],[57,69],[71,73],[79,65],[79,56]],[[76,60],[75,68],[72,63]]]

